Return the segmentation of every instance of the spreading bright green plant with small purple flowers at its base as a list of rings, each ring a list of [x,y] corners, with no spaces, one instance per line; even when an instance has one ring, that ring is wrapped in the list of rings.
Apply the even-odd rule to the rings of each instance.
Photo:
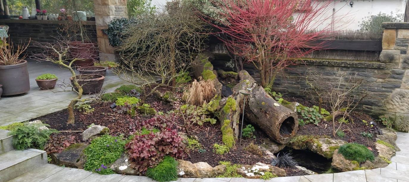
[[[84,149],[84,169],[99,174],[113,174],[114,171],[107,166],[115,162],[125,151],[126,141],[121,137],[102,135],[91,141]]]

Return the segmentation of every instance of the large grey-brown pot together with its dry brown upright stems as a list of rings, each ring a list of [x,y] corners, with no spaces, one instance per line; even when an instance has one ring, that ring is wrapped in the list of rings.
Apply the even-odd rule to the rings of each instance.
[[[0,40],[0,84],[3,85],[2,95],[23,94],[30,90],[27,61],[24,60],[26,56],[22,56],[29,43],[27,45],[18,45],[17,49],[14,49],[12,43],[7,44],[5,40]]]

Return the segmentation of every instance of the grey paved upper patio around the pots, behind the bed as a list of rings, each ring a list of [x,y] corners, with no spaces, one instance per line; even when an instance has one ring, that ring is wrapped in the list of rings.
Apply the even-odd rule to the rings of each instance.
[[[63,110],[67,108],[70,99],[76,97],[75,92],[58,92],[63,91],[61,88],[40,90],[35,81],[40,74],[52,73],[58,77],[58,80],[68,83],[71,76],[70,71],[49,62],[38,63],[34,60],[27,62],[31,90],[26,94],[0,98],[0,126],[27,121]],[[119,85],[127,83],[108,70],[103,84],[103,92],[112,92]]]

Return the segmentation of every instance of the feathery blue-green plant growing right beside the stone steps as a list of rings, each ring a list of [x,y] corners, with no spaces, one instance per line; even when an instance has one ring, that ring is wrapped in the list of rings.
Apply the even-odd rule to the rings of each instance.
[[[9,135],[13,135],[13,147],[17,150],[24,150],[26,148],[37,148],[44,150],[45,144],[47,144],[49,136],[52,133],[57,133],[54,129],[44,129],[47,124],[28,124],[22,126],[16,126],[9,132]]]

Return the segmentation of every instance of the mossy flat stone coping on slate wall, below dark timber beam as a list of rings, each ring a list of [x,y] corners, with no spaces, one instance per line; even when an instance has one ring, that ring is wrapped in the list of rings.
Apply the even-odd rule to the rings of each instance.
[[[368,68],[385,68],[385,63],[375,61],[350,61],[350,60],[314,60],[303,59],[297,61],[298,64],[306,65],[327,65],[327,66],[344,66],[344,67],[368,67]]]

